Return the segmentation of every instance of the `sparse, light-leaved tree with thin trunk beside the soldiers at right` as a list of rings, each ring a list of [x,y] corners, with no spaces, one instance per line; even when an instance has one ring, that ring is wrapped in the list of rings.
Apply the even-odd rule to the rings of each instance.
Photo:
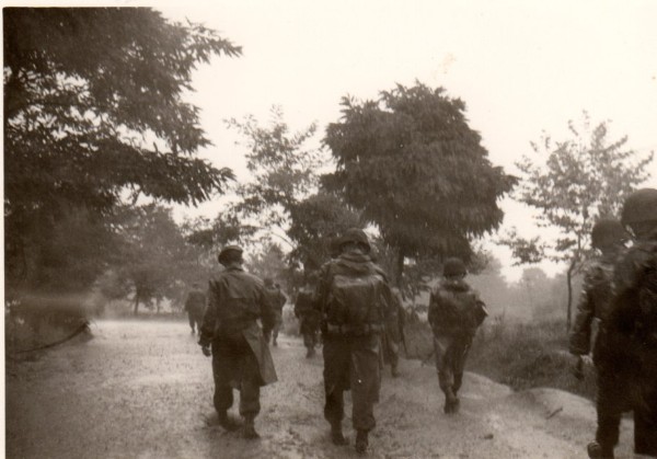
[[[516,164],[523,176],[515,198],[537,209],[537,225],[556,228],[558,237],[526,239],[511,229],[500,242],[511,248],[518,263],[567,263],[569,330],[573,276],[591,255],[591,229],[601,218],[618,218],[625,196],[649,176],[653,153],[642,158],[626,147],[626,136],[610,140],[608,123],[592,126],[586,112],[579,125],[568,122],[568,129],[570,138],[556,142],[543,134],[531,144],[537,157],[526,154]]]

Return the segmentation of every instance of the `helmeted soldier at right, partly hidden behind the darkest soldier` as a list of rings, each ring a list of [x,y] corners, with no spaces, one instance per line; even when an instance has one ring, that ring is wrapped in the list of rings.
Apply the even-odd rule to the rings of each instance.
[[[575,374],[581,377],[581,356],[591,349],[593,320],[607,319],[613,298],[613,268],[625,249],[627,232],[618,220],[602,219],[593,225],[591,245],[600,251],[600,256],[591,261],[585,269],[584,285],[577,315],[570,333],[570,354],[577,356]]]

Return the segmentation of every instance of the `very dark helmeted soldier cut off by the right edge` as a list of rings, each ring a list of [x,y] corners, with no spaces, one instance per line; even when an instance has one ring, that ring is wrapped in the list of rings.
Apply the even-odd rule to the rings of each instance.
[[[635,244],[614,269],[614,297],[596,340],[598,429],[590,458],[613,458],[621,412],[634,412],[634,451],[657,457],[657,190],[632,193],[621,222]]]

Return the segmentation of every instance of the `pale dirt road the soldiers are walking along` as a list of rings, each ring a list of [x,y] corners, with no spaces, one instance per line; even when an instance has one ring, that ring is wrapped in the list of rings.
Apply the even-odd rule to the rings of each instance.
[[[94,338],[32,362],[8,360],[8,458],[345,458],[322,417],[322,358],[299,338],[273,348],[279,382],[263,389],[262,438],[216,425],[210,359],[183,322],[96,322]],[[387,368],[388,370],[388,368]],[[466,374],[461,412],[441,411],[435,369],[402,360],[385,372],[373,458],[583,458],[595,432],[590,402],[507,387]],[[350,403],[348,404],[350,406]],[[234,410],[235,408],[233,408]],[[634,457],[623,423],[618,457]]]

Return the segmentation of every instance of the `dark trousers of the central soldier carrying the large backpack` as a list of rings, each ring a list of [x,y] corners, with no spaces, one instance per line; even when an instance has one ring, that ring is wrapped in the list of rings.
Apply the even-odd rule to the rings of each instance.
[[[344,391],[351,390],[351,422],[357,431],[376,426],[373,405],[381,387],[381,349],[376,334],[366,336],[324,336],[324,417],[342,422]]]

